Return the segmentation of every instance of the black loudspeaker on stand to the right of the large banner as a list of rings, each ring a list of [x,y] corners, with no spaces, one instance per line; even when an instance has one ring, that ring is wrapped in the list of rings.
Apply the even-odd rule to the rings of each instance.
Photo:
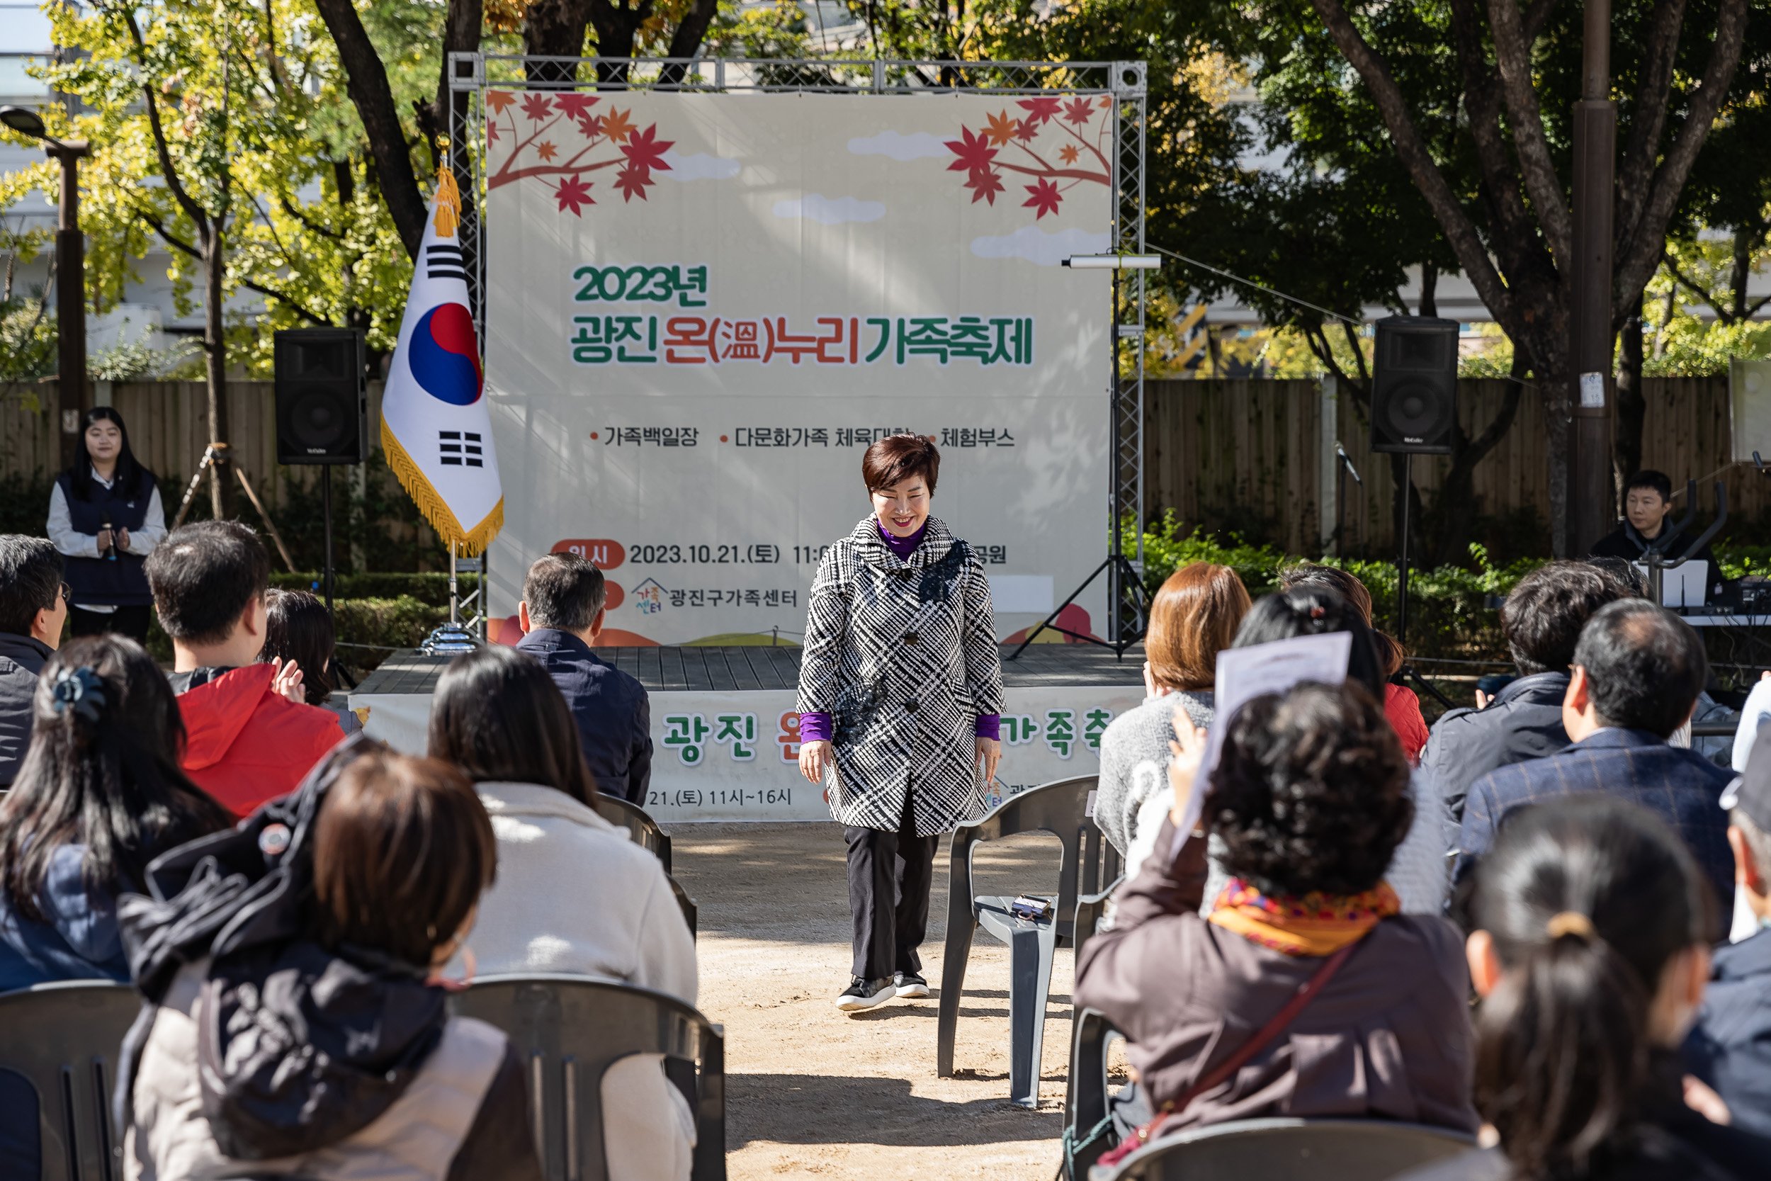
[[[1458,425],[1458,320],[1390,315],[1376,324],[1371,450],[1450,455]]]

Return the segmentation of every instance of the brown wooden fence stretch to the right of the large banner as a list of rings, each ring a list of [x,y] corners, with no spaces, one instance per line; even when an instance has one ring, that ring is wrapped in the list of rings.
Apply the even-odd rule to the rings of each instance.
[[[1645,467],[1668,473],[1681,494],[1684,480],[1697,478],[1702,517],[1714,505],[1707,483],[1718,478],[1728,485],[1730,515],[1759,519],[1771,512],[1771,480],[1750,464],[1728,467],[1727,377],[1651,377],[1643,386]],[[1371,452],[1369,427],[1350,397],[1325,393],[1316,381],[1153,381],[1144,391],[1149,512],[1172,508],[1187,524],[1234,529],[1289,552],[1319,552],[1321,538],[1334,531],[1339,441],[1364,478],[1364,485],[1346,480],[1348,552],[1387,554],[1394,545],[1390,457]],[[1473,437],[1493,421],[1505,395],[1500,379],[1459,381],[1465,432]],[[1325,416],[1334,423],[1328,441]],[[1413,459],[1415,487],[1427,505],[1449,467],[1443,455]],[[1330,487],[1323,483],[1325,469]],[[1548,485],[1543,398],[1527,388],[1512,428],[1475,467],[1477,513],[1491,528],[1527,529],[1532,513],[1546,524]]]

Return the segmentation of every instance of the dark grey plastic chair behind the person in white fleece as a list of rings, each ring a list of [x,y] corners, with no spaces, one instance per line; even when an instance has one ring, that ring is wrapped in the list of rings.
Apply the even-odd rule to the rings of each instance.
[[[547,1181],[607,1177],[602,1075],[632,1054],[666,1055],[666,1073],[689,1098],[698,1131],[691,1179],[724,1181],[724,1027],[666,993],[583,976],[489,976],[452,997],[450,1007],[505,1030],[526,1064]]]

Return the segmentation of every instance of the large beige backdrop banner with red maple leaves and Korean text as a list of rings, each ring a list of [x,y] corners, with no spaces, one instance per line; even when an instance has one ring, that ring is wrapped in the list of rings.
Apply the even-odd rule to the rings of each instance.
[[[1100,96],[487,90],[492,637],[528,565],[609,579],[599,643],[797,643],[861,457],[933,512],[999,637],[1107,549],[1114,110]],[[1105,586],[1064,620],[1105,632]]]

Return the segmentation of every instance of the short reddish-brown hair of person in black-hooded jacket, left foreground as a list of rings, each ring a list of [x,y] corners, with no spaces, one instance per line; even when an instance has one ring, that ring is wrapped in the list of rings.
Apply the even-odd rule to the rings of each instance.
[[[321,800],[312,933],[429,969],[496,871],[492,822],[459,767],[370,751]]]

